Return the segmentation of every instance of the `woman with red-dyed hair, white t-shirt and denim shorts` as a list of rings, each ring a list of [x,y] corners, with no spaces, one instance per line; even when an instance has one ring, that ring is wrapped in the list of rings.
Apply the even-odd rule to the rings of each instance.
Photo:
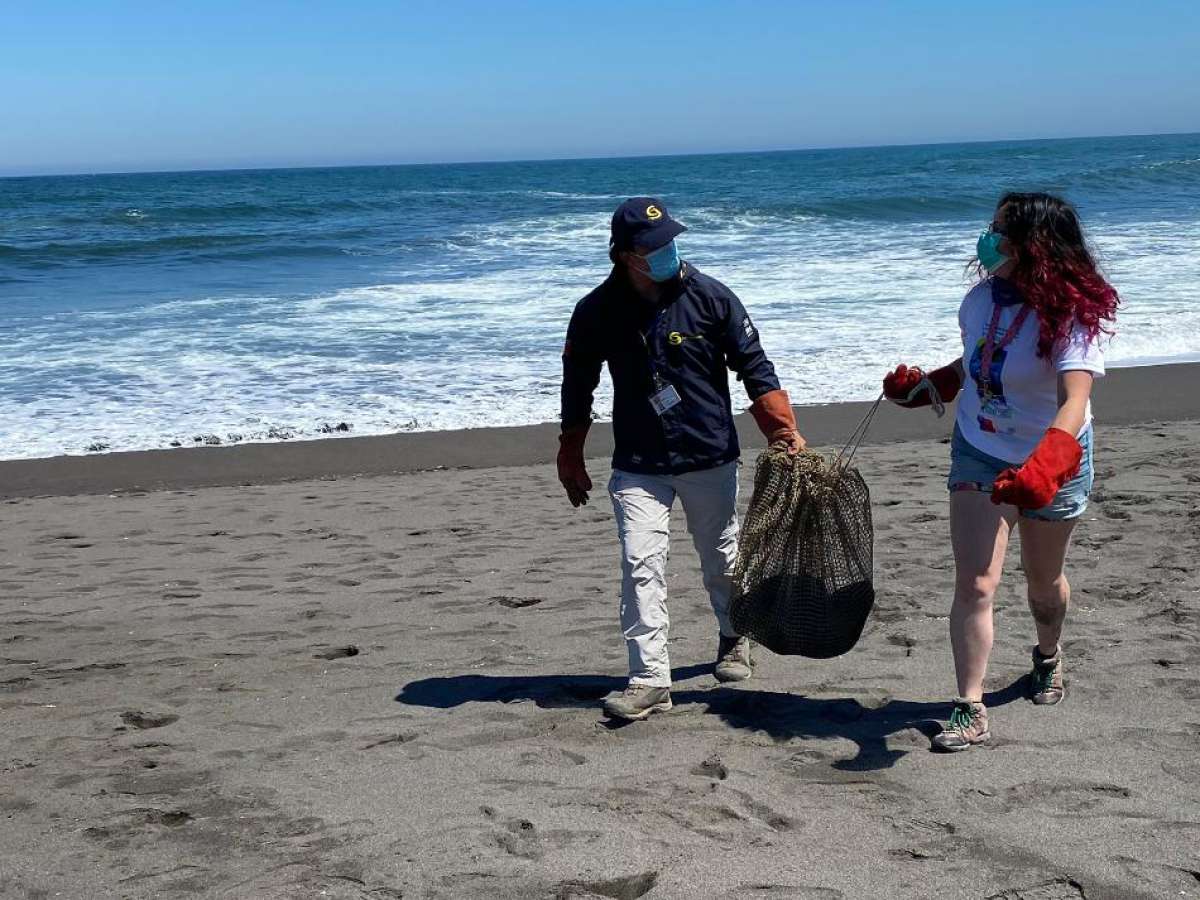
[[[902,407],[953,401],[950,644],[959,696],[934,749],[967,750],[990,737],[983,682],[992,598],[1016,523],[1037,625],[1030,697],[1063,697],[1060,640],[1070,600],[1063,572],[1092,487],[1092,380],[1118,298],[1097,271],[1075,210],[1045,193],[1008,193],[979,236],[982,280],[959,310],[964,354],[928,376],[899,366],[883,392]],[[964,380],[966,382],[964,385]]]

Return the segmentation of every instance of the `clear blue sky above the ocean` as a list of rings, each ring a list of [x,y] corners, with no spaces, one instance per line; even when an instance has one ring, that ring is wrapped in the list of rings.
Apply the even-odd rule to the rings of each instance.
[[[1200,131],[1200,4],[0,5],[0,174]]]

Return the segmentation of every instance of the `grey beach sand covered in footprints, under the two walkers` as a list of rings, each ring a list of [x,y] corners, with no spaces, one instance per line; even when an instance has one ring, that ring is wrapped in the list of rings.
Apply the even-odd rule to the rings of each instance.
[[[816,433],[854,409],[800,413]],[[677,517],[676,709],[622,727],[599,710],[625,665],[612,512],[602,491],[572,510],[545,462],[287,480],[277,456],[276,478],[160,491],[114,481],[128,460],[42,481],[2,463],[0,895],[1200,896],[1200,409],[1100,414],[1068,697],[1021,696],[1014,547],[995,739],[955,756],[928,750],[954,689],[928,413],[931,439],[892,440],[916,426],[889,412],[859,451],[878,588],[859,646],[760,652],[719,685]],[[511,452],[548,458],[541,434]],[[473,438],[442,458],[486,458]],[[163,470],[178,487],[193,457],[247,450]]]

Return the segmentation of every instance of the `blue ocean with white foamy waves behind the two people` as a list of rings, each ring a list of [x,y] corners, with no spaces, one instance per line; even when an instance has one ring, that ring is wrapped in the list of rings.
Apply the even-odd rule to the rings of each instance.
[[[1200,134],[0,179],[0,458],[552,421],[635,194],[793,402],[874,398],[956,355],[1006,190],[1079,208],[1123,299],[1110,364],[1200,359]]]

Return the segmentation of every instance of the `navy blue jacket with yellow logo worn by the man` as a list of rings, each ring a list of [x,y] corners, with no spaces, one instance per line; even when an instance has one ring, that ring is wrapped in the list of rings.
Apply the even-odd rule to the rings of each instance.
[[[613,468],[656,475],[709,469],[738,458],[727,368],[750,400],[779,389],[775,367],[742,301],[683,264],[652,306],[613,269],[575,307],[563,349],[563,428],[592,419],[600,367],[612,376]],[[654,412],[654,373],[683,402]]]

